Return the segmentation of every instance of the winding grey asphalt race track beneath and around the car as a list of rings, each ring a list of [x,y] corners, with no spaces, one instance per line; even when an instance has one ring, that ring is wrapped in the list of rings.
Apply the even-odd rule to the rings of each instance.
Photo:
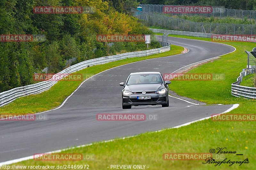
[[[160,39],[160,37],[158,37]],[[75,145],[132,136],[171,128],[226,111],[232,105],[191,106],[169,97],[170,106],[133,106],[122,109],[120,82],[131,72],[173,71],[204,59],[230,53],[235,48],[219,43],[169,37],[173,45],[189,48],[186,54],[126,64],[104,71],[87,81],[59,109],[42,113],[47,121],[0,121],[0,162]],[[171,84],[172,85],[172,84]],[[99,113],[144,113],[157,120],[97,121]]]

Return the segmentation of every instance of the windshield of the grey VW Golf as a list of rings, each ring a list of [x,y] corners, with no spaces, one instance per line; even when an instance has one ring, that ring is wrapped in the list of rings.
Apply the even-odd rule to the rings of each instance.
[[[163,83],[159,74],[131,75],[127,85]]]

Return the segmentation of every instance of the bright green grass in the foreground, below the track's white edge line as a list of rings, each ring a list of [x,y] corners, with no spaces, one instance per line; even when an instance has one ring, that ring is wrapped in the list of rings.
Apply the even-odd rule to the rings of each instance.
[[[178,129],[168,129],[157,133],[143,133],[136,137],[96,143],[91,146],[66,150],[62,153],[93,153],[93,161],[35,161],[33,159],[15,165],[89,165],[93,170],[110,169],[110,165],[146,165],[146,169],[191,169],[248,170],[256,167],[255,122],[213,122],[211,119],[196,122]],[[248,158],[246,165],[222,164],[215,167],[203,164],[203,160],[163,160],[164,153],[209,153],[210,149],[227,147],[226,154],[232,161]],[[247,148],[247,149],[246,149]]]

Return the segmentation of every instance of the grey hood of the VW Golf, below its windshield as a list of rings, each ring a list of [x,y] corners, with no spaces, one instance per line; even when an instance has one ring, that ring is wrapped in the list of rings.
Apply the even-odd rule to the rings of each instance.
[[[159,84],[126,85],[124,87],[124,90],[128,90],[130,92],[142,92],[142,91],[153,92],[163,88],[164,88],[164,85],[159,83]]]

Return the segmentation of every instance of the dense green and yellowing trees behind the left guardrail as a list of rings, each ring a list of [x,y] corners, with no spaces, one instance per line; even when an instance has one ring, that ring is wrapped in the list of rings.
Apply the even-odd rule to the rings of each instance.
[[[109,4],[108,4],[109,2]],[[0,92],[35,83],[33,74],[46,66],[56,73],[73,57],[77,62],[123,52],[145,50],[142,42],[118,42],[109,47],[97,34],[152,34],[113,1],[1,0],[0,34],[45,34],[44,42],[0,42]],[[112,5],[112,6],[110,6]],[[35,6],[94,6],[93,14],[35,14]],[[120,7],[120,6],[119,6]],[[122,13],[120,13],[120,12]],[[158,48],[157,42],[150,48]]]

